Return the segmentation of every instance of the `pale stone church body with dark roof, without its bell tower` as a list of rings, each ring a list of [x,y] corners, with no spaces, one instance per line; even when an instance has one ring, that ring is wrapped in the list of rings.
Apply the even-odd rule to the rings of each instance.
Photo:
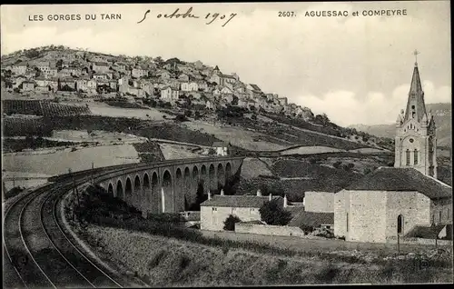
[[[380,167],[334,194],[334,234],[396,242],[416,227],[452,224],[452,188],[414,168]]]

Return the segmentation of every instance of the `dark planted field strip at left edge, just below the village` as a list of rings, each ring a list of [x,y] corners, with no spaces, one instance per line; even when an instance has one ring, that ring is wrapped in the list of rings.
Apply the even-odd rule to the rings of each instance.
[[[51,101],[13,100],[2,101],[3,113],[6,115],[89,115],[86,106],[60,105]]]

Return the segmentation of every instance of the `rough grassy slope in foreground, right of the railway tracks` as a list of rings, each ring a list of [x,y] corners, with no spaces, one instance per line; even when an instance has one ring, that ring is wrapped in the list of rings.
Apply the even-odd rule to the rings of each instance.
[[[407,260],[350,261],[349,257],[333,257],[335,252],[322,253],[318,244],[298,246],[311,248],[311,254],[306,253],[307,256],[304,253],[289,256],[254,253],[234,244],[194,244],[92,225],[87,234],[92,245],[103,248],[100,253],[106,260],[120,264],[124,274],[136,274],[152,287],[452,281],[449,265],[421,271],[419,266],[415,266],[418,261],[407,259],[405,255]],[[271,247],[276,245],[275,241],[271,240]],[[383,260],[383,257],[377,259]]]

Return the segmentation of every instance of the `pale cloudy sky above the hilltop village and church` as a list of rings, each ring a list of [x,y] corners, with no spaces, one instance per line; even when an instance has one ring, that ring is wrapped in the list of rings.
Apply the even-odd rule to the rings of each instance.
[[[184,14],[190,7],[199,18],[158,18],[177,8]],[[449,8],[449,1],[2,5],[1,48],[2,55],[65,45],[200,60],[314,114],[325,113],[338,125],[392,124],[406,106],[415,49],[426,103],[451,102]],[[404,9],[406,15],[362,15]],[[306,15],[311,11],[346,11],[348,16]],[[39,15],[43,21],[33,21]],[[54,15],[80,15],[81,20],[54,20]],[[96,19],[85,20],[85,15]]]

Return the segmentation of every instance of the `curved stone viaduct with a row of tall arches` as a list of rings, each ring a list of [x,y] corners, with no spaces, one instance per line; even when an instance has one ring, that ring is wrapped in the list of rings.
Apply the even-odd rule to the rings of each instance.
[[[95,177],[94,183],[143,214],[178,213],[195,203],[199,188],[207,194],[224,186],[233,174],[240,174],[243,159],[218,156],[129,165]]]

